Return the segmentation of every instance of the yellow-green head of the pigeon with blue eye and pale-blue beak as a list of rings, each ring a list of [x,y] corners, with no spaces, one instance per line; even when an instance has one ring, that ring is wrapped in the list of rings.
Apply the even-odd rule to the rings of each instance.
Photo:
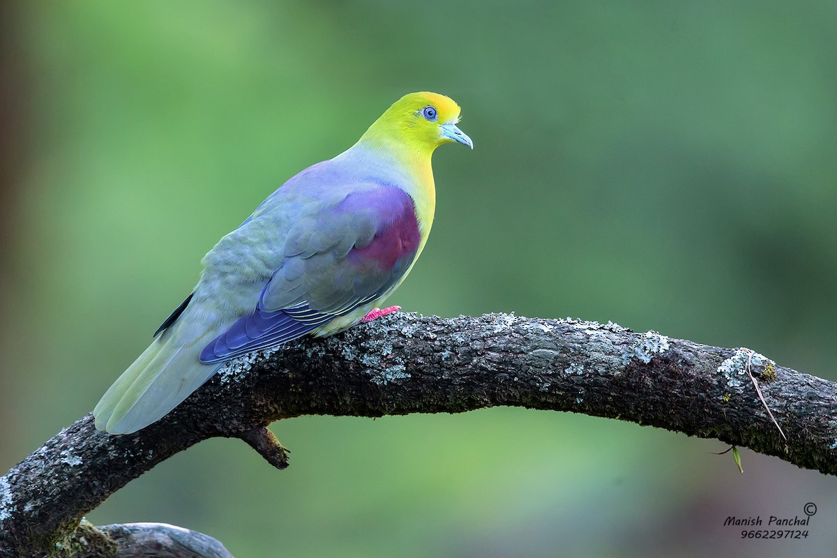
[[[375,120],[361,141],[396,143],[428,156],[451,141],[473,149],[470,137],[457,127],[459,121],[460,105],[453,99],[427,91],[410,93]]]

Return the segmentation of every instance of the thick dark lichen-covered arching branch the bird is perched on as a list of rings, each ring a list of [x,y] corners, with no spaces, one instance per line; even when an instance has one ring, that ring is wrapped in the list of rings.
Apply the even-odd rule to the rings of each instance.
[[[619,418],[837,474],[837,384],[754,351],[611,323],[399,314],[233,361],[139,433],[80,418],[0,478],[0,556],[56,554],[109,494],[206,438],[242,438],[281,468],[285,448],[264,429],[277,419],[497,405]]]

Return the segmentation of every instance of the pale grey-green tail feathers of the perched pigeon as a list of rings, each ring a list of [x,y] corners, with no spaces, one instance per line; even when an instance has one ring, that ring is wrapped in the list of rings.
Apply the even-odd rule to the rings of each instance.
[[[157,422],[218,371],[198,360],[209,338],[160,335],[113,383],[93,410],[96,428],[127,434]]]

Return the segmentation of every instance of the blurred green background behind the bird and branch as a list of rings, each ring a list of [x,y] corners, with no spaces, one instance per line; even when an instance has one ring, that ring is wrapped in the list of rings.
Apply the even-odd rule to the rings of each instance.
[[[475,151],[391,299],[747,346],[837,380],[837,9],[624,3],[6,2],[0,470],[95,405],[295,172],[400,95]],[[833,556],[837,483],[720,442],[497,408],[274,425],[278,472],[199,444],[90,514],[244,556]],[[806,540],[728,515],[819,513]]]

